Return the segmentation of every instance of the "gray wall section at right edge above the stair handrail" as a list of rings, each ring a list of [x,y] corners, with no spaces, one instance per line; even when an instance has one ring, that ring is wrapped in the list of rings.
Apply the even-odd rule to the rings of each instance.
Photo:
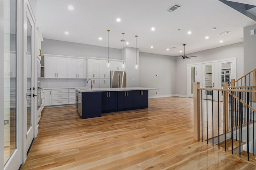
[[[256,68],[256,35],[250,35],[250,30],[256,25],[244,27],[244,74]]]

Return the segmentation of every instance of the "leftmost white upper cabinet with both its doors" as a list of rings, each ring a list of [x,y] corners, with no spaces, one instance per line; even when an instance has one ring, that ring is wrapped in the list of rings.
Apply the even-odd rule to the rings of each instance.
[[[68,58],[44,56],[44,78],[68,78]]]

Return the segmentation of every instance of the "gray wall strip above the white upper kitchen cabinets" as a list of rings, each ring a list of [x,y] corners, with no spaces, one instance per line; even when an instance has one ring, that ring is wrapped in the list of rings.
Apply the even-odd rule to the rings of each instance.
[[[74,57],[98,57],[108,58],[108,48],[96,45],[72,43],[53,39],[42,41],[42,53],[53,55],[66,55]],[[109,49],[110,59],[122,59],[121,49]]]

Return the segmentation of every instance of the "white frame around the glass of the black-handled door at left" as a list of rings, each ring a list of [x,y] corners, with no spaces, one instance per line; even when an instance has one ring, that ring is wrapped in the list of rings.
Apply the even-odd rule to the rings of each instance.
[[[36,129],[36,113],[37,113],[37,98],[36,97],[33,97],[33,90],[31,92],[31,125],[32,127],[28,130],[28,133],[27,133],[27,100],[26,100],[26,92],[27,92],[27,19],[30,20],[30,23],[32,24],[32,39],[33,39],[33,43],[31,43],[31,56],[32,56],[32,72],[31,72],[31,82],[33,84],[33,86],[31,88],[35,88],[34,90],[34,94],[36,94],[36,19],[35,19],[35,16],[33,14],[33,11],[32,11],[32,7],[31,7],[31,4],[30,4],[30,1],[29,0],[24,0],[23,1],[23,5],[24,5],[24,12],[23,12],[23,22],[24,22],[24,29],[23,29],[23,70],[22,72],[24,73],[22,79],[23,79],[23,82],[22,82],[22,92],[23,92],[23,150],[22,150],[22,164],[24,164],[24,162],[26,161],[26,158],[27,158],[27,152],[28,152],[28,149],[30,147],[30,145],[32,144],[32,141],[33,139],[35,138],[35,129]],[[28,16],[28,18],[27,18]]]

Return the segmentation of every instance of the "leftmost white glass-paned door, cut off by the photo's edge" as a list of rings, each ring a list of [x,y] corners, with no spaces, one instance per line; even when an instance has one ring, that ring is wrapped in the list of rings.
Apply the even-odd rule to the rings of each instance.
[[[0,2],[4,22],[0,24],[0,169],[16,170],[20,167],[22,150],[22,100],[19,98],[21,90],[17,88],[20,76],[17,77],[17,66],[21,66],[21,34],[17,28],[17,1],[5,0]],[[20,9],[20,8],[18,8]],[[2,20],[1,15],[1,20]],[[23,26],[23,25],[22,25]],[[21,25],[18,27],[21,28]],[[4,41],[3,41],[4,40]],[[18,48],[19,47],[19,48]],[[20,70],[19,70],[20,71]],[[20,74],[19,74],[20,75]],[[20,85],[20,84],[19,84]],[[19,102],[18,102],[19,101]]]

